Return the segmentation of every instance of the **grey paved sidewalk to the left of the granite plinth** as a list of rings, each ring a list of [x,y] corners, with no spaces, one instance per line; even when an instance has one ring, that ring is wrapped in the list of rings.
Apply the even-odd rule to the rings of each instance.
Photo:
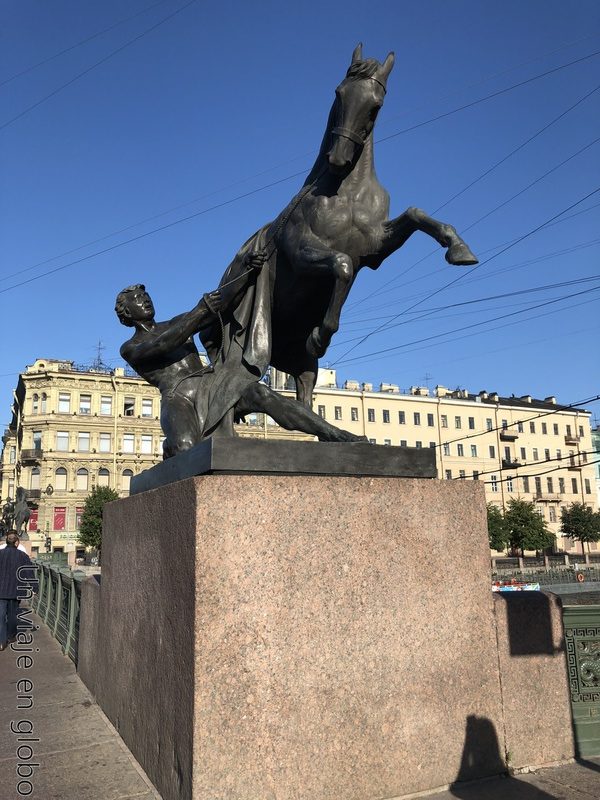
[[[20,780],[37,800],[160,800],[72,662],[32,620],[33,644],[0,653],[0,800],[26,796]]]

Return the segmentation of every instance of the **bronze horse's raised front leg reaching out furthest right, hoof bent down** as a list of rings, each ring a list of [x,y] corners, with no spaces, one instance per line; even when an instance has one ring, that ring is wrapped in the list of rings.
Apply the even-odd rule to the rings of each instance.
[[[453,225],[429,217],[420,208],[414,207],[407,208],[404,214],[384,223],[381,249],[378,254],[380,256],[379,263],[402,247],[415,231],[426,233],[439,242],[442,247],[445,247],[446,261],[449,264],[472,266],[479,263],[469,245],[458,235]]]

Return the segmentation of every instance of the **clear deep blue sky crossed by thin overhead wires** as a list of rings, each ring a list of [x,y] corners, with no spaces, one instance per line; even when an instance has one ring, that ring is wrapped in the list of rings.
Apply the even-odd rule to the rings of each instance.
[[[600,393],[597,0],[4,0],[0,424],[35,358],[89,364],[101,342],[122,365],[124,286],[164,319],[217,285],[302,184],[359,41],[396,53],[375,129],[392,215],[435,212],[482,265],[415,234],[361,272],[322,365],[404,390]]]

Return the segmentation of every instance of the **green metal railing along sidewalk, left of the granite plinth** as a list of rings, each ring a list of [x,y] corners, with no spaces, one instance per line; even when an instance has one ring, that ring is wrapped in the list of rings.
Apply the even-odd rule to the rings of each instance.
[[[33,597],[33,610],[50,628],[63,653],[77,664],[81,581],[85,573],[34,563],[38,568],[39,588]]]

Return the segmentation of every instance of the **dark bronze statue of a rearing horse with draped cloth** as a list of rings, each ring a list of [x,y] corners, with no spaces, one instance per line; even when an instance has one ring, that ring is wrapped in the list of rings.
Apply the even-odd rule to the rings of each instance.
[[[388,217],[389,195],[374,169],[373,128],[393,65],[393,53],[380,63],[363,59],[362,45],[356,47],[303,188],[243,245],[220,286],[241,278],[252,251],[266,252],[267,265],[220,325],[200,331],[211,360],[221,361],[230,376],[238,370],[262,377],[271,364],[295,378],[297,399],[309,407],[318,359],[362,267],[377,269],[415,231],[445,247],[450,264],[477,263],[451,225],[424,211]],[[217,405],[216,416],[231,410],[229,401]]]

